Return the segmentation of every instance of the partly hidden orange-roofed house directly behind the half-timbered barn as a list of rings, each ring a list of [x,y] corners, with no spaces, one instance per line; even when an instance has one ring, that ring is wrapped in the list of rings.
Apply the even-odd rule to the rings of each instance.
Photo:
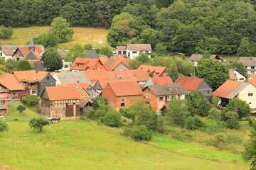
[[[88,94],[88,98],[86,100],[92,102],[92,99],[95,99],[99,94],[97,91],[88,83],[80,83],[77,81],[77,83],[71,83],[71,84],[58,84],[58,86],[75,86],[77,89],[83,88],[85,89],[86,93]],[[82,98],[84,99],[84,98]]]

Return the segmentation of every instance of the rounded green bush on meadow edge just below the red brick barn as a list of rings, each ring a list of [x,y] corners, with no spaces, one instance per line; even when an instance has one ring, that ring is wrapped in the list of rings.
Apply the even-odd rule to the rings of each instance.
[[[111,127],[120,127],[122,125],[121,114],[116,111],[109,111],[102,117],[101,122]]]

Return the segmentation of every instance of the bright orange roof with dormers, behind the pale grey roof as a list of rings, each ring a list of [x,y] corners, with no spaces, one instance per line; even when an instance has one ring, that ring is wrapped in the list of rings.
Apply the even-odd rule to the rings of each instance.
[[[87,69],[106,70],[104,65],[100,61],[100,59],[92,59],[92,58],[76,58],[70,67],[70,70],[85,71]]]

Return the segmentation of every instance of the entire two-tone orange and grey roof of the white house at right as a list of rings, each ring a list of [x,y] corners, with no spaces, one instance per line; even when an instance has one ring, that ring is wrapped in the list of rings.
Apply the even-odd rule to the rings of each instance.
[[[233,81],[227,80],[224,84],[222,84],[218,89],[213,92],[213,96],[218,96],[222,98],[234,98],[237,96],[242,89],[245,89],[250,83],[241,82],[241,81]]]

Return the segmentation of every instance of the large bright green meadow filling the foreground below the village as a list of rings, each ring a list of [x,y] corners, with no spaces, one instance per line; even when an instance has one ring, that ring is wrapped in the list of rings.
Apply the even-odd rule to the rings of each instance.
[[[19,103],[11,103],[15,117]],[[31,116],[41,116],[29,109]],[[18,115],[16,115],[18,116]],[[20,115],[22,116],[22,115]],[[26,118],[24,118],[26,119]],[[151,142],[134,142],[120,129],[96,122],[67,120],[38,133],[26,120],[7,122],[0,133],[0,164],[18,169],[249,169],[238,154],[208,149],[154,135]],[[1,166],[0,166],[1,167]]]

